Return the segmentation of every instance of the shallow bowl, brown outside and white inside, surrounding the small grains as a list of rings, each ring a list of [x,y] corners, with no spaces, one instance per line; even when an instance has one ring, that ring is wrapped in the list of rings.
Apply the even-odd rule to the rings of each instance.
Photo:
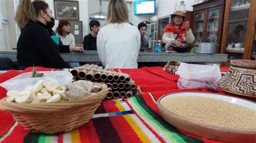
[[[205,92],[176,92],[161,96],[157,100],[157,106],[161,113],[161,116],[173,126],[180,128],[183,131],[199,135],[200,137],[227,141],[227,142],[256,142],[256,129],[244,129],[244,128],[229,128],[224,126],[209,125],[200,123],[196,120],[190,120],[181,117],[173,112],[167,111],[162,103],[165,99],[175,96],[203,96],[214,99],[220,99],[229,103],[244,106],[256,111],[256,104],[251,101],[247,101],[241,98],[235,98],[231,96],[225,96],[220,94],[205,93]],[[255,117],[256,119],[256,117]]]

